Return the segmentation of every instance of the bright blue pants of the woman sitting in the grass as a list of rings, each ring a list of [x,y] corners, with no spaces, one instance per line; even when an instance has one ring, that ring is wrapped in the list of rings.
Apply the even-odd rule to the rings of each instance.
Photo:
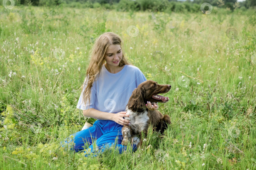
[[[85,150],[85,156],[88,156],[89,153],[97,152],[98,149],[104,151],[110,146],[115,146],[116,149],[119,149],[119,153],[121,154],[126,150],[126,146],[121,145],[123,139],[122,127],[122,125],[114,121],[97,120],[92,127],[72,134],[74,145],[71,147],[71,150],[73,149],[76,152],[82,151],[84,150],[83,146],[88,143],[90,146]],[[95,144],[93,144],[95,141],[97,148],[95,148]],[[67,141],[65,143],[67,143]],[[133,151],[137,150],[136,144],[133,144],[131,148]]]

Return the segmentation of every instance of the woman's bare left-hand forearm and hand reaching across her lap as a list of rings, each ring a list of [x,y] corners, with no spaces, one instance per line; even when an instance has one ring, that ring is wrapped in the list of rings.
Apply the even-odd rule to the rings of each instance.
[[[112,120],[120,125],[129,125],[130,121],[125,120],[123,117],[129,117],[126,111],[121,111],[119,113],[108,113],[94,108],[83,110],[83,116],[92,117],[99,120]]]

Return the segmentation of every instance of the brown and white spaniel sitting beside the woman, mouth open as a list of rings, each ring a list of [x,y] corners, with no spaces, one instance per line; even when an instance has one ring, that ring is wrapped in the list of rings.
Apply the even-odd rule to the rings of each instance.
[[[138,135],[140,141],[138,145],[142,144],[141,133],[147,135],[149,123],[153,126],[154,130],[161,133],[167,128],[168,124],[171,124],[170,117],[168,115],[162,115],[157,110],[148,110],[146,108],[147,101],[151,103],[160,102],[166,103],[169,98],[158,95],[159,93],[167,93],[171,89],[171,85],[160,85],[152,80],[147,80],[141,83],[136,88],[126,105],[128,115],[131,117],[125,117],[126,120],[131,121],[131,124],[125,125],[122,128],[123,140],[122,145],[126,145],[132,140],[133,135]]]

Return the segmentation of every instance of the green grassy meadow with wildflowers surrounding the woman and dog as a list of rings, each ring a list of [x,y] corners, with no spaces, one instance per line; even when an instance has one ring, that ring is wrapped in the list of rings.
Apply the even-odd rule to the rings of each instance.
[[[256,169],[256,12],[119,12],[0,6],[0,169]],[[136,152],[85,157],[60,147],[95,38],[119,34],[129,62],[171,84],[164,135]]]

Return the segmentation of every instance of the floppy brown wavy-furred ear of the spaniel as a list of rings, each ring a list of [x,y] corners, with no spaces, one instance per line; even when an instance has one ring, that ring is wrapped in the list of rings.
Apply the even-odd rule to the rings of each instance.
[[[145,90],[144,88],[138,87],[132,92],[131,97],[128,101],[128,109],[136,112],[143,112],[142,107],[144,103]]]

